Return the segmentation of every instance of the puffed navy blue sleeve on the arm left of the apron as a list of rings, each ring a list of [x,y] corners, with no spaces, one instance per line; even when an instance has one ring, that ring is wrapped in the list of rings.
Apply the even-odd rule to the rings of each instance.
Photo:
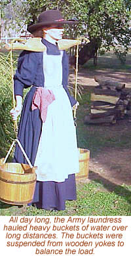
[[[23,96],[24,88],[33,85],[37,73],[37,53],[23,51],[18,59],[18,68],[14,75],[14,95]]]

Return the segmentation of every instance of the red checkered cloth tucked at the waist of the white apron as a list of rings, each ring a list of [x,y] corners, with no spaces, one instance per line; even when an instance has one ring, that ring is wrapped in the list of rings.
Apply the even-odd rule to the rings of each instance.
[[[36,110],[37,108],[39,108],[43,123],[45,123],[47,118],[48,105],[50,105],[53,100],[55,100],[55,97],[52,91],[44,87],[37,88],[37,91],[33,95],[31,110]]]

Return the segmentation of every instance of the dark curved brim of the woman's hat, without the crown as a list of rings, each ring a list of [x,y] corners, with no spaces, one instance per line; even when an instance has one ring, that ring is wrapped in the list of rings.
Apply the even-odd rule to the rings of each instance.
[[[39,23],[36,23],[36,24],[33,24],[31,26],[28,27],[28,32],[29,33],[33,33],[35,32],[36,30],[40,30],[42,28],[44,28],[45,26],[48,26],[48,25],[64,25],[64,24],[67,24],[69,26],[71,25],[74,25],[74,24],[77,24],[77,21],[75,20],[63,20],[63,21],[53,21],[53,22],[39,22]]]

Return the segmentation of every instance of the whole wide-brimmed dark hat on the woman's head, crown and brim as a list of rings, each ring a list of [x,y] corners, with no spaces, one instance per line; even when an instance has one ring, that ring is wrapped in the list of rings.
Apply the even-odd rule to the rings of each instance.
[[[42,28],[50,25],[63,25],[63,24],[73,25],[76,23],[77,23],[76,20],[64,20],[60,11],[47,10],[47,11],[41,12],[36,24],[33,24],[28,27],[28,32],[33,33],[36,30],[41,30]]]

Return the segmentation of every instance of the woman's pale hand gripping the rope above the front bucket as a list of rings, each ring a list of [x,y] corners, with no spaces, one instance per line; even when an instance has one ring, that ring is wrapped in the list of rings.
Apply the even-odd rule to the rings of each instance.
[[[17,117],[20,115],[21,112],[22,112],[22,96],[16,95],[16,107],[10,110],[10,115],[12,116],[12,119],[16,121]]]

